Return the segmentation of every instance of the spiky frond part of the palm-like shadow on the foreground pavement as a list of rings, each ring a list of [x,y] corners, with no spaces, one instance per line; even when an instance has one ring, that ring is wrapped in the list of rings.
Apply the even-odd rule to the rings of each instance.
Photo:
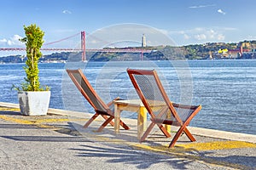
[[[177,159],[176,156],[166,156],[145,150],[133,150],[129,146],[113,146],[108,147],[80,145],[79,149],[70,149],[77,151],[76,156],[98,157],[99,159],[108,158],[106,163],[124,163],[126,165],[135,165],[138,169],[147,169],[153,165],[166,164],[170,168],[185,169],[186,165],[191,161],[185,157]]]

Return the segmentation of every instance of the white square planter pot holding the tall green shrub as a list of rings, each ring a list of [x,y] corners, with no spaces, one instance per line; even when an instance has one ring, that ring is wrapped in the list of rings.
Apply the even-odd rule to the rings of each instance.
[[[47,115],[50,91],[18,92],[20,114],[26,116]]]

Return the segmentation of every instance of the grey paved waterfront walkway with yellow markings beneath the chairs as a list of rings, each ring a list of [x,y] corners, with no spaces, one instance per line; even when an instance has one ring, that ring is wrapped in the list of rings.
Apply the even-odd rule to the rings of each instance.
[[[137,141],[137,121],[124,119],[131,130],[113,133],[101,120],[84,129],[90,114],[49,109],[48,116],[20,116],[17,105],[0,103],[0,169],[256,169],[256,135],[189,127],[169,149],[156,128]],[[172,129],[175,130],[175,129]]]

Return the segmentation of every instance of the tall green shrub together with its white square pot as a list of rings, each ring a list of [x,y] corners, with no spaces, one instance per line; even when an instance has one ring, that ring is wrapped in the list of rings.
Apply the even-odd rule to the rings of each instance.
[[[21,115],[42,116],[46,115],[49,107],[50,91],[48,86],[42,86],[39,82],[38,61],[42,57],[40,48],[44,40],[44,31],[38,26],[24,26],[26,37],[20,42],[26,43],[26,72],[25,82],[20,86],[13,85],[18,90],[18,99]]]

